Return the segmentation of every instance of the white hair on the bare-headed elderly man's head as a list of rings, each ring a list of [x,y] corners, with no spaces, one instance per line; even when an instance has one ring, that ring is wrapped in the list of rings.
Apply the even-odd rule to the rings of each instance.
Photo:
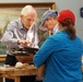
[[[35,13],[35,15],[37,16],[37,12],[32,5],[25,5],[21,11],[21,15],[26,16],[31,12]]]

